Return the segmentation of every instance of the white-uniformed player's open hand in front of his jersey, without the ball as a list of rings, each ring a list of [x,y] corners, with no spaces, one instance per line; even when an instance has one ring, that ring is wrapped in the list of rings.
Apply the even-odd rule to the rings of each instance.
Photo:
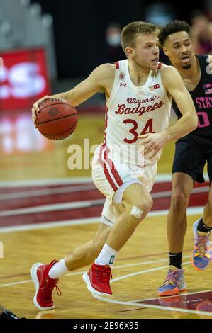
[[[140,145],[144,146],[144,154],[149,154],[149,158],[155,157],[155,155],[162,149],[167,142],[164,132],[160,133],[148,133],[144,135],[138,135]]]

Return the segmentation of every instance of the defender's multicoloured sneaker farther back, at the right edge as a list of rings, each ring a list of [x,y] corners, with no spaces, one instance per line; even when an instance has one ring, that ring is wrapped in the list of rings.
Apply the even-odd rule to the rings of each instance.
[[[194,251],[192,254],[192,264],[195,269],[202,271],[206,269],[212,259],[210,231],[201,232],[197,231],[199,220],[194,222]]]

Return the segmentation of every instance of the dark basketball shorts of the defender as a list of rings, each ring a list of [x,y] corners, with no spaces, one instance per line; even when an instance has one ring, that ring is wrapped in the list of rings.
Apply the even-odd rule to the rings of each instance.
[[[190,140],[179,140],[175,143],[172,174],[183,172],[189,174],[193,181],[203,183],[203,169],[207,163],[208,177],[212,181],[212,153],[201,149],[200,145]]]

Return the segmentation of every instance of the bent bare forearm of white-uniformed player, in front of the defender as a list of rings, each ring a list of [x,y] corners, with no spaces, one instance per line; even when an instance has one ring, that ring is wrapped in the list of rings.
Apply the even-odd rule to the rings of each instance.
[[[177,140],[196,129],[198,124],[197,115],[185,114],[177,120],[177,123],[164,130],[167,141]]]

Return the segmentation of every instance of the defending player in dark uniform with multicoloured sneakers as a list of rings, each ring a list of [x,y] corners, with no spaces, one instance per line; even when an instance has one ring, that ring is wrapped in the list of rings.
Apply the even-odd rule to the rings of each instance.
[[[198,127],[176,142],[172,166],[172,200],[167,218],[169,243],[169,270],[167,279],[160,286],[161,296],[176,295],[186,288],[182,269],[182,250],[186,233],[186,208],[194,182],[202,183],[203,168],[208,163],[208,176],[212,181],[212,77],[210,64],[212,57],[194,55],[190,27],[185,21],[167,23],[160,31],[159,39],[165,55],[181,74],[186,88],[196,107]],[[180,118],[181,111],[172,103]],[[209,235],[212,229],[212,189],[208,193],[208,203],[203,216],[194,222],[193,266],[206,269],[211,261]]]

